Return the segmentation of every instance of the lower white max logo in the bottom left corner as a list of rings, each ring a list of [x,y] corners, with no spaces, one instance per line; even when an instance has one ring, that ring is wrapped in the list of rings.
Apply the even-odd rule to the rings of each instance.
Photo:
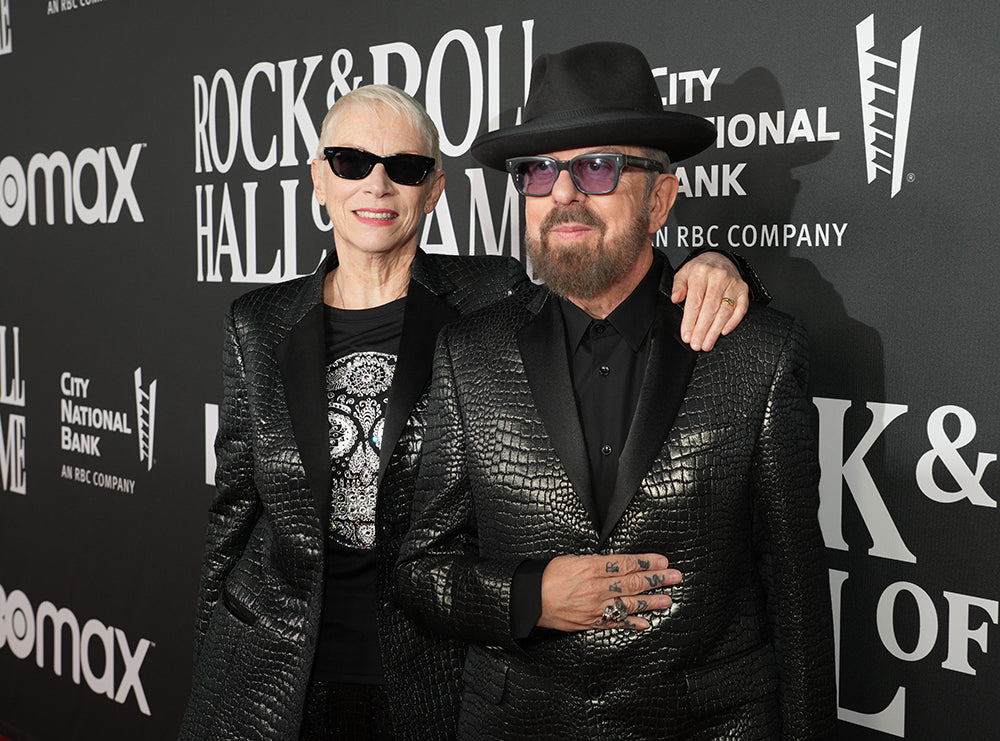
[[[67,640],[69,650],[64,651]],[[73,684],[80,684],[82,676],[92,692],[119,705],[134,696],[143,715],[150,712],[139,671],[153,645],[140,638],[133,649],[121,628],[105,625],[97,618],[91,618],[81,628],[69,608],[57,608],[48,600],[35,608],[20,589],[6,594],[0,585],[0,648],[7,646],[19,659],[34,654],[39,669],[51,661],[57,677],[69,669]]]

